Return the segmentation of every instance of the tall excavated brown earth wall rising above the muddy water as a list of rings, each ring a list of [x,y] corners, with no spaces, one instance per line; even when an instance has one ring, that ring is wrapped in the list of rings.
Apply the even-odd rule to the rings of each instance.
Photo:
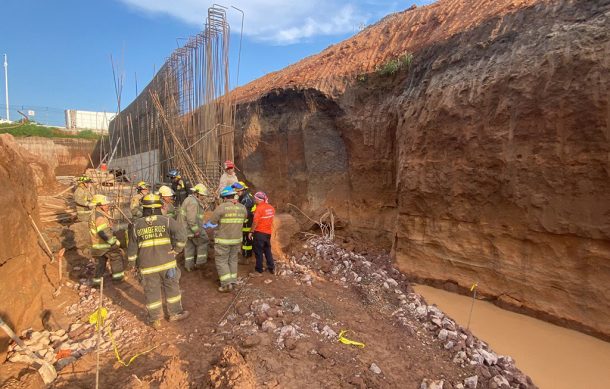
[[[297,79],[242,102],[238,166],[280,207],[333,207],[415,278],[478,281],[504,304],[610,337],[610,2],[493,2],[484,19],[456,17],[462,3],[371,27],[369,44],[392,52],[402,29],[416,39],[452,21],[393,75],[343,80],[337,94],[311,65],[302,84],[319,89]]]

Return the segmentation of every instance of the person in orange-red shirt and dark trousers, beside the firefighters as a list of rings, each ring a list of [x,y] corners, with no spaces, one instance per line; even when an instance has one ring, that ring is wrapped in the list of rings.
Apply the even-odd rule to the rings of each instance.
[[[258,274],[263,272],[263,255],[267,261],[267,271],[275,274],[275,262],[271,253],[271,233],[273,232],[273,218],[275,208],[269,204],[269,198],[265,192],[256,192],[254,195],[256,211],[252,222],[252,232],[250,239],[253,239],[254,257],[256,265],[254,270]]]

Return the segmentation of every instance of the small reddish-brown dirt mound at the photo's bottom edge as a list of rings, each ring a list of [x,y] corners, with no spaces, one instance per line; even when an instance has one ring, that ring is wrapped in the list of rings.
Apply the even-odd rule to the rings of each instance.
[[[222,349],[220,361],[208,372],[209,385],[215,389],[256,389],[254,370],[233,346]]]

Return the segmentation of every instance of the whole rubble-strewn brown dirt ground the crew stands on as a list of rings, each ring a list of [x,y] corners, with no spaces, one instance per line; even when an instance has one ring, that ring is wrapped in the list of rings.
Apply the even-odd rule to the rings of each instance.
[[[99,291],[89,286],[95,265],[79,233],[84,226],[44,225],[53,251],[68,249],[66,277],[46,303],[47,331],[21,334],[26,342],[50,335],[42,351],[49,351],[58,369],[55,388],[90,388],[96,382],[96,333],[88,321]],[[158,331],[146,324],[135,275],[113,284],[107,274],[100,387],[446,389],[464,387],[478,375],[477,387],[485,388],[501,387],[492,377],[509,372],[512,387],[534,387],[510,357],[485,351],[487,345],[426,305],[381,249],[347,236],[331,242],[298,234],[276,260],[275,275],[254,275],[252,262],[241,264],[238,288],[223,294],[210,246],[202,269],[182,271],[182,301],[191,316],[164,321]],[[48,274],[59,286],[54,268]],[[341,343],[342,330],[365,346]],[[16,353],[12,345],[9,359]],[[489,363],[481,356],[487,354],[493,357]],[[27,365],[6,362],[0,365],[0,387],[43,387],[33,373]]]

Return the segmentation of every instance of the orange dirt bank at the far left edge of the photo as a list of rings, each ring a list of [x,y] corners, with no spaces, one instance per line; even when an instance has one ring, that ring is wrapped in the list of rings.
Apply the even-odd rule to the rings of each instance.
[[[35,172],[27,162],[30,157],[11,135],[0,135],[0,316],[16,331],[40,326],[47,283],[43,266],[48,258],[42,255],[28,216],[39,220]],[[38,166],[43,165],[38,161]],[[50,170],[48,166],[40,169]],[[2,332],[0,359],[7,345]]]

